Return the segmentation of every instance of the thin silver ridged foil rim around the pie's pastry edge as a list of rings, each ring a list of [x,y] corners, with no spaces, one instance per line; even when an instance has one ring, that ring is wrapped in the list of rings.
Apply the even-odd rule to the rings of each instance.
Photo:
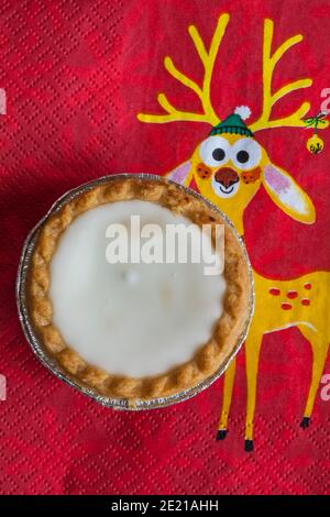
[[[36,336],[36,332],[34,330],[32,320],[30,318],[29,309],[28,309],[28,293],[26,293],[26,287],[28,287],[28,274],[29,274],[29,268],[30,268],[30,261],[32,257],[32,253],[34,250],[34,245],[38,235],[38,232],[41,230],[41,227],[44,224],[44,222],[54,213],[56,213],[58,210],[63,208],[66,202],[73,200],[75,197],[91,190],[92,188],[102,185],[105,183],[111,183],[117,179],[124,179],[124,178],[134,178],[134,179],[147,179],[147,180],[153,180],[153,182],[167,182],[169,184],[175,184],[178,188],[182,190],[186,191],[187,194],[194,196],[195,198],[201,200],[205,205],[207,205],[212,211],[220,215],[220,217],[226,221],[226,223],[231,228],[232,233],[234,234],[235,239],[238,240],[241,250],[243,252],[243,255],[246,260],[248,264],[248,270],[249,270],[249,288],[250,288],[250,305],[249,305],[249,314],[248,318],[245,321],[244,329],[242,333],[240,334],[235,346],[232,350],[232,353],[229,355],[227,361],[224,361],[223,364],[219,367],[217,372],[215,372],[212,375],[204,380],[202,382],[196,384],[194,387],[182,391],[179,393],[169,395],[167,397],[161,397],[161,398],[151,398],[147,400],[143,399],[138,399],[134,404],[134,407],[131,407],[129,405],[128,399],[125,398],[112,398],[112,397],[107,397],[103,395],[98,394],[96,391],[92,388],[89,388],[87,386],[80,385],[77,383],[77,381],[67,372],[65,372],[61,365],[56,362],[55,359],[51,358],[46,350],[43,346],[43,343]],[[129,173],[121,173],[121,174],[111,174],[108,176],[102,176],[98,179],[94,179],[91,182],[88,182],[86,184],[79,185],[76,188],[73,188],[72,190],[68,190],[59,199],[57,199],[47,213],[38,221],[38,223],[33,228],[33,230],[29,233],[28,238],[25,239],[25,242],[23,244],[22,253],[21,253],[21,258],[19,263],[19,270],[18,270],[18,278],[16,278],[16,304],[18,304],[18,311],[19,311],[19,319],[24,332],[24,336],[26,338],[26,341],[29,342],[30,346],[32,348],[34,354],[37,356],[37,359],[42,362],[44,366],[46,366],[54,375],[56,375],[57,378],[64,381],[67,383],[69,386],[78,389],[80,393],[84,395],[88,396],[89,398],[92,398],[97,403],[106,406],[106,407],[111,407],[113,409],[123,409],[123,410],[142,410],[142,409],[156,409],[156,408],[162,408],[162,407],[167,407],[184,400],[187,400],[195,395],[199,394],[207,387],[209,387],[217,378],[219,378],[228,369],[230,362],[233,360],[233,358],[237,355],[239,352],[240,348],[242,346],[242,343],[244,342],[246,334],[249,332],[249,327],[250,322],[252,319],[253,310],[254,310],[254,283],[253,283],[253,275],[252,275],[252,267],[251,263],[248,256],[248,252],[244,245],[244,242],[242,238],[238,234],[233,223],[231,220],[228,218],[226,213],[223,213],[216,205],[213,205],[211,201],[206,199],[204,196],[200,194],[196,193],[189,187],[185,187],[183,185],[177,184],[176,182],[173,182],[172,179],[164,178],[163,176],[157,176],[155,174],[129,174]]]

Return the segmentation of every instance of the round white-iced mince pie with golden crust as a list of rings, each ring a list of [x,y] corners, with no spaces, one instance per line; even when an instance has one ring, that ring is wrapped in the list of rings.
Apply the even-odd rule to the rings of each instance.
[[[169,227],[201,234],[205,224],[224,228],[217,275],[189,254],[167,256]],[[212,248],[215,234],[200,242]],[[212,205],[164,178],[109,176],[68,193],[26,253],[25,333],[48,366],[100,402],[139,408],[187,398],[217,377],[246,332],[252,285],[242,243]]]

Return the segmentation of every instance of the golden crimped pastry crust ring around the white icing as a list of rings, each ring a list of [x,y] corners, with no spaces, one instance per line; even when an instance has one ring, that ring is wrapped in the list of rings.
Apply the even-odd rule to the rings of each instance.
[[[107,397],[125,398],[129,406],[138,399],[161,398],[191,388],[215,374],[228,360],[246,328],[251,311],[251,280],[249,264],[242,248],[226,223],[224,277],[227,289],[223,312],[207,343],[201,343],[193,360],[164,372],[163,375],[130,378],[112,375],[81,359],[63,340],[53,326],[52,304],[48,298],[50,263],[57,242],[66,228],[80,213],[107,202],[128,199],[153,201],[189,218],[193,222],[223,224],[220,215],[198,197],[166,179],[120,177],[90,187],[68,200],[59,210],[45,219],[33,250],[29,272],[29,311],[35,330],[52,359],[76,384],[91,388]]]

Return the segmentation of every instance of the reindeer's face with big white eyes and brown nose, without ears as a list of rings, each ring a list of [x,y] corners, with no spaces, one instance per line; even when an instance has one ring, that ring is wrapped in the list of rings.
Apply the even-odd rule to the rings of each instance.
[[[201,194],[215,202],[219,198],[246,197],[261,185],[262,146],[252,138],[237,134],[212,135],[196,148],[191,163]]]

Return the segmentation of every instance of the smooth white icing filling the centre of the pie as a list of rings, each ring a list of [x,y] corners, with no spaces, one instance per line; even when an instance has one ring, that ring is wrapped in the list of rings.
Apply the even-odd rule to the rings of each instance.
[[[189,361],[222,311],[224,278],[204,263],[109,264],[110,223],[191,224],[158,205],[127,200],[80,215],[51,263],[53,320],[84,360],[111,374],[157,375]],[[200,231],[200,230],[199,230]]]

